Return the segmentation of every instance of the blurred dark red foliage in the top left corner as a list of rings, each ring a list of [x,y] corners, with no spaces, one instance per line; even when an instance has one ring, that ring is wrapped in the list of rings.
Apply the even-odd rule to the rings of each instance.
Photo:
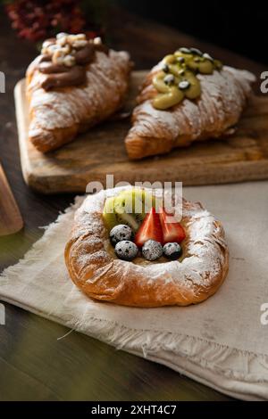
[[[107,0],[0,0],[18,37],[38,42],[57,32],[103,36]]]

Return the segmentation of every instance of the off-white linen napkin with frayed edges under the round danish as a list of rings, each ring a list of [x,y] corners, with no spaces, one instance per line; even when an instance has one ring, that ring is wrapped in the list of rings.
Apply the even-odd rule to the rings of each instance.
[[[0,300],[235,398],[268,399],[268,182],[187,187],[184,196],[222,220],[230,248],[230,273],[205,302],[127,308],[80,292],[68,276],[63,250],[83,197],[46,227],[24,259],[4,270]]]

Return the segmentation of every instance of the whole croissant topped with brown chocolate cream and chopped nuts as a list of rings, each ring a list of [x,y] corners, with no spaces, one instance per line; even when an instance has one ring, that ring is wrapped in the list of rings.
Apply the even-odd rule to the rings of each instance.
[[[130,67],[128,53],[109,50],[100,38],[47,39],[27,70],[29,140],[49,152],[108,118],[121,107]]]

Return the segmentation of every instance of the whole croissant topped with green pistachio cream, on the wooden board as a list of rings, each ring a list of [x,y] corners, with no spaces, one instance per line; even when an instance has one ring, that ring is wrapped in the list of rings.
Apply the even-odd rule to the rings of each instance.
[[[125,139],[130,159],[234,132],[255,76],[180,48],[148,74]]]

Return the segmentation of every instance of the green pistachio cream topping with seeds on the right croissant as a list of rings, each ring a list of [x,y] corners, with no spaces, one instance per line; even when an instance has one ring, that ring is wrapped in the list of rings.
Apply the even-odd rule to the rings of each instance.
[[[222,70],[222,62],[197,48],[180,48],[166,55],[162,64],[162,70],[153,77],[153,85],[158,92],[153,106],[160,110],[171,108],[185,97],[197,99],[201,94],[197,73],[212,74],[214,70]]]

